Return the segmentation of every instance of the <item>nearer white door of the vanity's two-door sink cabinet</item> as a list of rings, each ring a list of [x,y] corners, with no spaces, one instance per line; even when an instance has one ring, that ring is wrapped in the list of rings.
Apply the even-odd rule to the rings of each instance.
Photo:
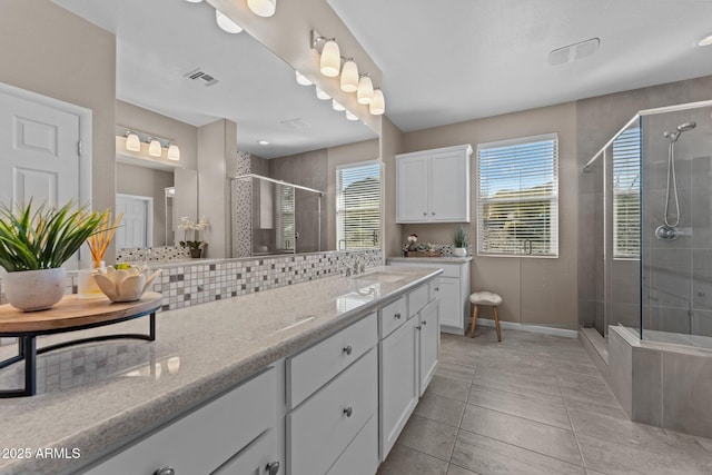
[[[417,318],[380,342],[380,459],[384,461],[418,404]]]

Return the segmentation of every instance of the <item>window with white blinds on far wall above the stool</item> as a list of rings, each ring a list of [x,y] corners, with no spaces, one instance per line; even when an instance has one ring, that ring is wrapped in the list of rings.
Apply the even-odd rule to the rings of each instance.
[[[558,137],[477,146],[477,254],[558,256]]]

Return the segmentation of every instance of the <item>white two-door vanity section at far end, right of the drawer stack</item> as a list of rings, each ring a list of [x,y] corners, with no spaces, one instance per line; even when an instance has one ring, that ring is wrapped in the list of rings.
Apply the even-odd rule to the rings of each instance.
[[[438,303],[436,293],[424,284],[406,297],[408,318],[387,335],[382,334],[380,350],[380,459],[384,461],[433,378],[439,356]],[[380,319],[389,321],[387,311]],[[382,325],[382,328],[384,326]]]

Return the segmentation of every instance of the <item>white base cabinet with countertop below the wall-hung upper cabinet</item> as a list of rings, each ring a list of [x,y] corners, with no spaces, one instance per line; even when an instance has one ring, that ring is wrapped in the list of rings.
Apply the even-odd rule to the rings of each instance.
[[[441,268],[443,274],[431,281],[431,290],[441,299],[441,331],[463,335],[469,313],[469,263],[472,258],[388,258],[388,265]],[[437,283],[437,284],[436,284]],[[437,290],[435,290],[437,289]]]

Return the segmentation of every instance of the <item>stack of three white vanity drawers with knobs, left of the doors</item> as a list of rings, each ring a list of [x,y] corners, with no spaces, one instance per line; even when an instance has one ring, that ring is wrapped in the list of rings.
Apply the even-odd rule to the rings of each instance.
[[[378,467],[378,324],[370,314],[288,357],[288,475]]]

